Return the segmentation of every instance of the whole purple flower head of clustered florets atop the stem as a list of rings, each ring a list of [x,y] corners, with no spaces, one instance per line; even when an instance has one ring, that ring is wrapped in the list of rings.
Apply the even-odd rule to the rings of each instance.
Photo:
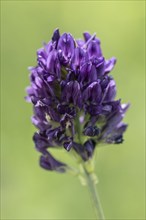
[[[129,105],[115,100],[116,84],[109,75],[116,59],[105,60],[95,34],[83,36],[75,40],[56,29],[37,51],[37,66],[29,68],[26,99],[33,104],[32,123],[38,129],[33,140],[47,170],[67,169],[49,148],[72,149],[88,161],[101,143],[122,143],[127,128],[122,119]]]

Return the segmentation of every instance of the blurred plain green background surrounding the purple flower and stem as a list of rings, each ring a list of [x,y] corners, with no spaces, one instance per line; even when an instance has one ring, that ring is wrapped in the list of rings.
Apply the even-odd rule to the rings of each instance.
[[[2,219],[94,219],[86,187],[69,174],[38,165],[25,103],[27,67],[53,30],[96,32],[106,58],[118,59],[117,97],[131,103],[122,145],[99,148],[96,173],[107,219],[145,219],[144,12],[145,1],[2,1]],[[65,151],[60,160],[71,162]]]

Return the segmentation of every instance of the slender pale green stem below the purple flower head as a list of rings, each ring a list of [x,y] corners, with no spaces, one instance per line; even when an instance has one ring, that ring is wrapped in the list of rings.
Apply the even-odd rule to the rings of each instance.
[[[100,199],[99,199],[99,195],[98,195],[98,192],[97,192],[97,189],[96,189],[96,185],[95,185],[95,183],[93,181],[93,178],[92,178],[92,173],[88,173],[85,170],[85,168],[84,168],[84,171],[85,171],[85,175],[86,175],[88,189],[89,189],[90,196],[91,196],[91,199],[92,199],[92,203],[93,203],[93,206],[94,206],[95,214],[96,214],[96,217],[97,217],[96,219],[104,220],[105,219],[104,213],[103,213],[103,210],[102,210],[102,206],[101,206],[101,203],[100,203]]]

